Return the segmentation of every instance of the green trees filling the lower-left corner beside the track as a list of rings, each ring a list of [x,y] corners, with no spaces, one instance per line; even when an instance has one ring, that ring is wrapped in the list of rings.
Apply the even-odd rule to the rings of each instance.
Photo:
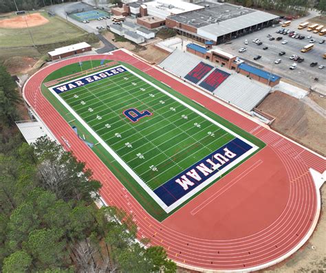
[[[175,272],[164,248],[136,240],[131,215],[95,205],[101,184],[85,163],[48,138],[22,141],[11,110],[19,95],[10,76],[3,91],[3,74],[0,66],[0,272]]]

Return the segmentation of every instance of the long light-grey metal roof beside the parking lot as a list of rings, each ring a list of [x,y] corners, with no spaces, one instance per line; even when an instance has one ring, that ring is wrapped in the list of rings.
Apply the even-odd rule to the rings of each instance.
[[[218,23],[213,23],[210,25],[206,25],[202,28],[199,28],[199,34],[202,36],[206,36],[204,33],[208,33],[214,36],[214,39],[218,36],[222,36],[224,34],[229,34],[232,32],[236,32],[237,30],[241,30],[243,28],[248,28],[252,25],[257,25],[259,23],[263,23],[265,21],[270,21],[272,19],[279,18],[274,14],[270,14],[267,12],[261,12],[259,10],[250,12],[248,14],[242,14],[239,17],[231,18],[225,21],[221,21]]]

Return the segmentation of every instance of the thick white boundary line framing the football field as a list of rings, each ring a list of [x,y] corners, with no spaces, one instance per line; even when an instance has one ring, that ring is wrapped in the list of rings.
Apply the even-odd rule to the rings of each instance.
[[[116,65],[115,67],[110,67],[109,69],[115,69],[117,67],[123,67],[124,69],[126,69],[127,72],[129,72],[129,73],[133,74],[134,76],[140,78],[145,83],[148,83],[149,85],[153,86],[155,89],[161,91],[163,94],[166,94],[166,96],[169,96],[170,98],[173,98],[175,101],[177,101],[180,104],[184,105],[188,109],[191,109],[192,111],[194,111],[195,113],[197,113],[199,116],[202,116],[203,118],[205,118],[206,120],[212,122],[213,124],[217,125],[218,127],[221,127],[221,129],[224,129],[224,131],[227,131],[231,135],[235,136],[235,138],[239,138],[243,142],[246,142],[248,145],[252,146],[252,149],[250,149],[249,151],[247,151],[246,153],[244,153],[243,155],[241,155],[240,157],[238,157],[237,160],[235,160],[234,162],[232,162],[231,164],[229,164],[228,166],[226,166],[225,168],[223,168],[218,173],[215,173],[215,175],[213,175],[212,177],[210,177],[209,179],[207,179],[204,183],[200,184],[199,186],[197,186],[196,188],[194,188],[193,190],[191,190],[189,193],[187,193],[186,195],[184,195],[184,197],[182,197],[182,198],[178,199],[177,201],[175,201],[175,203],[173,203],[171,206],[166,206],[166,204],[164,204],[164,202],[160,199],[160,197],[158,197],[157,195],[155,195],[155,193],[153,192],[153,190],[151,190],[151,188],[149,188],[149,186],[147,186],[146,183],[119,157],[119,155],[117,155],[109,147],[109,145],[104,140],[102,140],[102,138],[100,138],[100,136],[93,129],[91,129],[91,127],[89,127],[89,125],[83,120],[83,118],[80,118],[80,116],[76,113],[76,111],[74,111],[74,109],[72,109],[72,107],[70,107],[67,104],[67,102],[65,102],[65,100],[63,100],[63,98],[61,98],[61,96],[59,96],[56,93],[56,91],[54,91],[54,88],[56,88],[58,86],[65,85],[67,83],[70,83],[70,82],[73,82],[73,81],[76,81],[76,80],[80,80],[81,78],[86,78],[86,77],[93,76],[95,74],[99,74],[99,73],[101,73],[101,71],[95,72],[94,74],[83,76],[83,77],[80,77],[80,78],[77,78],[77,79],[74,79],[74,80],[69,80],[66,83],[61,83],[59,85],[55,85],[54,87],[50,87],[49,90],[61,102],[61,104],[63,106],[65,106],[74,115],[74,117],[76,118],[76,120],[78,120],[80,122],[80,124],[83,124],[83,127],[85,127],[87,129],[87,131],[89,131],[89,133],[91,133],[94,136],[94,138],[96,138],[96,140],[116,159],[116,161],[133,177],[133,179],[135,179],[135,181],[138,182],[138,184],[140,184],[140,186],[142,186],[142,188],[146,191],[146,193],[148,193],[149,196],[151,196],[157,202],[157,204],[163,210],[165,210],[167,213],[169,213],[172,210],[174,210],[175,208],[177,208],[177,206],[180,206],[180,204],[182,204],[184,201],[186,201],[191,196],[195,195],[199,190],[202,190],[202,188],[206,187],[208,184],[210,184],[211,182],[213,182],[219,176],[221,176],[222,174],[226,173],[230,168],[232,168],[233,166],[235,166],[236,164],[238,164],[239,162],[241,162],[242,160],[244,160],[246,157],[248,157],[249,155],[251,155],[252,153],[254,153],[255,151],[257,151],[257,149],[259,149],[258,146],[256,146],[255,144],[252,144],[249,140],[246,140],[245,138],[242,138],[240,135],[237,135],[237,133],[234,133],[233,131],[231,131],[227,127],[224,127],[224,125],[220,124],[216,120],[213,120],[212,118],[209,118],[204,113],[202,113],[202,112],[198,111],[197,109],[195,109],[194,107],[191,107],[190,105],[186,104],[186,102],[180,100],[179,98],[176,98],[175,96],[173,96],[172,94],[170,94],[168,91],[165,91],[164,89],[162,89],[160,87],[157,87],[155,84],[151,83],[149,80],[146,80],[142,76],[140,76],[137,73],[133,72],[131,69],[128,69],[127,67],[124,67],[124,65]],[[106,70],[107,69],[103,69],[102,71],[106,71]]]

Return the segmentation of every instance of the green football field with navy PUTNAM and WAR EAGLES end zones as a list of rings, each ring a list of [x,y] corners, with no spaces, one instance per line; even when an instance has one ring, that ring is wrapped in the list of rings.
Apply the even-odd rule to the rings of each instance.
[[[124,65],[49,89],[167,213],[261,148]]]

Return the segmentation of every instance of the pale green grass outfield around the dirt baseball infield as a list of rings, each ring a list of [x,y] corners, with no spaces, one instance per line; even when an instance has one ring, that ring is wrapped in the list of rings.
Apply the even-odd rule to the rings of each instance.
[[[50,22],[30,28],[36,45],[66,41],[86,33],[57,16],[50,17],[47,12],[40,13]],[[32,45],[32,40],[27,28],[0,28],[0,47],[25,47],[30,45]]]

